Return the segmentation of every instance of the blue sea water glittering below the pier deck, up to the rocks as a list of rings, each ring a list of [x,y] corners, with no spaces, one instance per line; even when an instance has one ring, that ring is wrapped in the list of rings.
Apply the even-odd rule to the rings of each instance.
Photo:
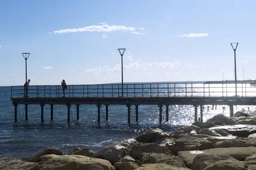
[[[249,86],[248,86],[249,87]],[[256,91],[256,88],[250,89]],[[28,121],[25,121],[24,105],[18,106],[18,120],[14,121],[14,106],[11,101],[11,86],[0,86],[0,157],[30,157],[46,148],[55,148],[67,153],[74,147],[90,148],[93,152],[128,138],[136,138],[147,130],[160,128],[173,132],[180,125],[194,122],[192,105],[169,106],[169,121],[159,124],[157,105],[140,105],[139,122],[135,121],[135,106],[131,106],[131,124],[127,120],[127,107],[110,105],[108,122],[105,121],[105,107],[102,106],[101,122],[97,123],[97,106],[80,105],[80,120],[76,120],[76,105],[71,106],[70,122],[67,122],[67,106],[54,105],[53,121],[50,121],[50,106],[44,107],[44,122],[41,122],[41,107],[28,105]],[[229,107],[217,105],[204,106],[204,121],[222,113],[230,115]],[[225,110],[223,109],[225,107]],[[247,109],[255,111],[255,106],[234,106],[234,112]]]

